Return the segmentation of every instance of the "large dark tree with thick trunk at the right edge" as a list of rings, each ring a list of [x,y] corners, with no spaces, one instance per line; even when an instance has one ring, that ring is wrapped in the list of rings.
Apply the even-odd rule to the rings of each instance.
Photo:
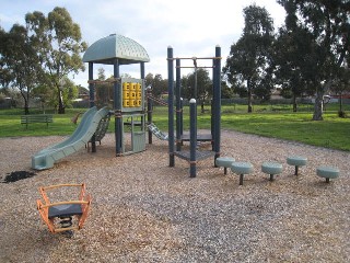
[[[294,37],[291,54],[303,56],[293,60],[302,80],[316,93],[313,119],[323,119],[323,98],[335,80],[341,78],[341,68],[349,65],[350,2],[346,0],[278,0],[287,18],[281,34]],[[298,41],[302,39],[302,41]],[[298,72],[296,72],[298,73]],[[306,87],[307,87],[306,85]]]

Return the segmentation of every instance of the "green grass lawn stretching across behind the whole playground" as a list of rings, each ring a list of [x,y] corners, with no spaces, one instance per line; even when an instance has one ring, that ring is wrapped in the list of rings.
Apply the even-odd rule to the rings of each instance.
[[[328,107],[320,122],[312,121],[313,112],[310,106],[298,113],[285,105],[259,105],[250,114],[245,113],[245,108],[244,105],[222,106],[221,128],[350,151],[350,118],[339,118],[337,107]],[[63,115],[54,114],[54,123],[48,128],[46,124],[30,124],[26,129],[20,123],[21,110],[1,110],[0,137],[70,135],[77,127],[71,123],[71,117],[85,110],[67,110]],[[188,115],[188,107],[185,107],[185,129],[189,127]],[[210,111],[205,114],[198,111],[197,119],[198,128],[210,128]],[[156,106],[153,122],[161,130],[167,132],[167,107]],[[108,132],[114,132],[114,121],[110,122]]]

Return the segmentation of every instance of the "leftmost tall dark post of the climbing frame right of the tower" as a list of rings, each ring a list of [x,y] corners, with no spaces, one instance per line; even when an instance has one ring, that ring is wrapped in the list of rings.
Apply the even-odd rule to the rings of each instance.
[[[167,47],[167,113],[168,113],[168,165],[175,165],[174,156],[174,57],[173,47]]]

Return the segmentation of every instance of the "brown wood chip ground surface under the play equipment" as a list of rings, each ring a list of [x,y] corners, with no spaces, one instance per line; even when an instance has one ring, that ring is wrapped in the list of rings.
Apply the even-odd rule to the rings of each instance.
[[[31,171],[31,156],[63,138],[1,138],[1,181]],[[115,157],[114,134],[95,153],[1,183],[0,262],[349,262],[350,152],[226,130],[221,140],[221,156],[253,163],[244,185],[213,158],[197,163],[194,179],[185,160],[170,168],[167,141],[154,137],[145,151]],[[295,155],[307,158],[298,176],[285,161]],[[273,182],[266,161],[283,165]],[[325,183],[319,165],[340,176]],[[71,238],[51,235],[36,209],[38,187],[61,183],[85,183],[93,198]]]

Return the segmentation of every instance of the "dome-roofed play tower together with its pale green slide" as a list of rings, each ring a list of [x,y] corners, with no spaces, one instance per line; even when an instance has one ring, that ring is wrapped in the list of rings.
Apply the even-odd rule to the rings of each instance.
[[[143,79],[144,62],[150,61],[145,49],[128,37],[112,34],[92,44],[85,52],[83,61],[89,62],[90,110],[85,112],[70,138],[43,149],[32,157],[32,168],[35,170],[52,168],[56,161],[77,152],[84,146],[88,147],[88,150],[91,146],[92,152],[96,151],[96,141],[101,144],[110,119],[110,112],[107,107],[97,111],[95,106],[95,84],[101,82],[114,85],[116,156],[145,149]],[[93,64],[113,65],[114,79],[94,80]],[[141,79],[119,77],[119,65],[129,64],[140,64]],[[126,147],[125,141],[126,127],[131,135],[129,148]]]

